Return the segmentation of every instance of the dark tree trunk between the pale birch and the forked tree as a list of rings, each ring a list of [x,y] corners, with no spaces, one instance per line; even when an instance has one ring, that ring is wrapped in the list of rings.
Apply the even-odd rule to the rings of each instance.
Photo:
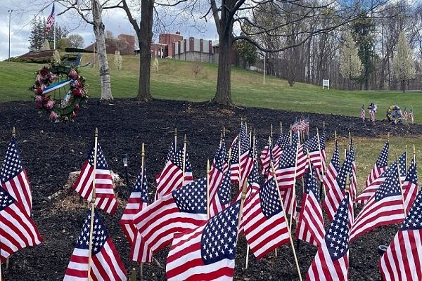
[[[150,91],[151,41],[153,39],[154,1],[142,0],[141,26],[139,29],[139,89],[136,99],[147,102],[153,99]]]

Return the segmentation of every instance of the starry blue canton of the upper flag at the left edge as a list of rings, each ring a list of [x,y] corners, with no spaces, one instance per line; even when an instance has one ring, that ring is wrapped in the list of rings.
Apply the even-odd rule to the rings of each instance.
[[[13,137],[8,145],[6,157],[0,170],[0,182],[5,183],[11,180],[23,170],[22,162],[18,152],[18,143]]]

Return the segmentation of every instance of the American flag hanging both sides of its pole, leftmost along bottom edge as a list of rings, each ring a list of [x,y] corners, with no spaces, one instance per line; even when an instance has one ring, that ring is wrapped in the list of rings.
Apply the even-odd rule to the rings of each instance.
[[[82,226],[63,281],[88,280],[91,210]],[[126,280],[126,269],[100,215],[94,211],[90,280]]]

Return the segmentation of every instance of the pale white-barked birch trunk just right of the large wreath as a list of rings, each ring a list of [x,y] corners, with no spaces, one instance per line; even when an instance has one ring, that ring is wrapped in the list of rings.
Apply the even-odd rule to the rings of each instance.
[[[110,68],[108,68],[106,37],[101,16],[102,8],[98,0],[92,0],[92,18],[96,39],[98,63],[100,65],[101,100],[113,100],[111,95]]]

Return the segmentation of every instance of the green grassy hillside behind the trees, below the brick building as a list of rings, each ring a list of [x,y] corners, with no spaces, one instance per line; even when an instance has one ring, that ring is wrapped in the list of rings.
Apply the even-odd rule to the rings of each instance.
[[[91,61],[84,55],[82,64]],[[124,56],[122,70],[115,69],[110,55],[113,96],[133,98],[138,89],[139,57]],[[97,65],[98,66],[98,65]],[[0,63],[0,102],[8,100],[30,100],[27,88],[33,83],[34,73],[41,65],[28,63]],[[98,68],[82,67],[80,73],[87,78],[89,94],[100,96]],[[363,92],[321,89],[320,86],[296,83],[266,77],[262,74],[233,67],[231,94],[236,105],[269,107],[302,112],[332,113],[335,115],[359,116],[362,103],[378,103],[377,119],[383,119],[386,109],[393,104],[414,107],[416,122],[422,122],[422,93]],[[151,91],[155,98],[175,100],[210,100],[217,84],[217,65],[203,64],[203,70],[195,79],[191,63],[179,60],[160,60],[158,73],[151,74]]]

